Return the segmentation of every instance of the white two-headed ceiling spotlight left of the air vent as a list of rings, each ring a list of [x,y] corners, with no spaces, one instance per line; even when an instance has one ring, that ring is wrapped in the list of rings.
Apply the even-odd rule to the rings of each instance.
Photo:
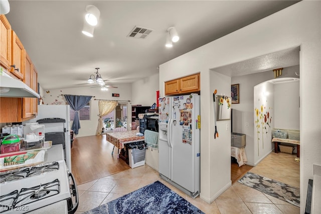
[[[93,5],[86,6],[85,21],[82,33],[93,37],[95,26],[98,24],[100,11]]]

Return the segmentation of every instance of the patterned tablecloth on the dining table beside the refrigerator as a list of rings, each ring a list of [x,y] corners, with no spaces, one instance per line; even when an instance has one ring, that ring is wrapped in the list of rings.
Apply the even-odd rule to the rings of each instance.
[[[107,133],[106,140],[115,147],[123,149],[125,143],[144,141],[144,136],[137,136],[137,133],[137,130]]]

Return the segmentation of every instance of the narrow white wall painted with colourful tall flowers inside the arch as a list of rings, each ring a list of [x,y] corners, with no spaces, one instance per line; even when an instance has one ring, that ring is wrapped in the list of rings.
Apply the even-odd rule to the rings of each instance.
[[[271,143],[275,118],[273,107],[274,85],[263,82],[254,86],[254,165],[258,164],[274,148]]]

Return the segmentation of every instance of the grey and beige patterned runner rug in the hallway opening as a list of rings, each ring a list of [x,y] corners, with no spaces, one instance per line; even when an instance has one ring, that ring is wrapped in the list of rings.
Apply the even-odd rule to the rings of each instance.
[[[251,172],[246,173],[238,182],[300,207],[300,189],[295,186]]]

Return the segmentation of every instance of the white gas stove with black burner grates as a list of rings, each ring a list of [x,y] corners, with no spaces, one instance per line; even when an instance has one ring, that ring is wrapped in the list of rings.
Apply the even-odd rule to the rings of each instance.
[[[25,213],[61,200],[67,200],[68,212],[73,213],[78,192],[69,177],[75,184],[63,160],[1,172],[0,213]]]

